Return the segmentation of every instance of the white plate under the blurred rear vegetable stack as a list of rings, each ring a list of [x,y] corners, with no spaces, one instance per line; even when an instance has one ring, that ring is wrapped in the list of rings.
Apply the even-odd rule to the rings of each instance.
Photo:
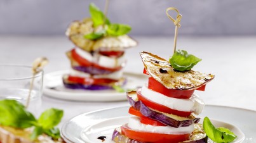
[[[50,97],[72,101],[122,101],[126,100],[126,93],[115,90],[74,90],[66,89],[62,83],[62,76],[69,71],[55,71],[44,76],[43,93]],[[147,82],[147,76],[138,73],[124,73],[127,84],[124,89],[136,89]]]

